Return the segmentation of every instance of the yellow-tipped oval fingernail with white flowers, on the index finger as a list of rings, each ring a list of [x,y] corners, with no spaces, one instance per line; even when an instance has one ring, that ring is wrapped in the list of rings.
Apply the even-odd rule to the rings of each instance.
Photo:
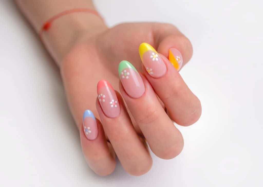
[[[157,51],[148,43],[139,46],[141,61],[150,76],[158,78],[166,73],[166,65]]]

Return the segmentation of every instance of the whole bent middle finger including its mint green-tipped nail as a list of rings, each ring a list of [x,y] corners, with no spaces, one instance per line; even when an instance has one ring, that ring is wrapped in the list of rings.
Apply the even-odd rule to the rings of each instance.
[[[174,126],[153,88],[128,61],[119,64],[120,92],[140,127],[151,150],[160,158],[170,159],[183,149],[183,137]]]

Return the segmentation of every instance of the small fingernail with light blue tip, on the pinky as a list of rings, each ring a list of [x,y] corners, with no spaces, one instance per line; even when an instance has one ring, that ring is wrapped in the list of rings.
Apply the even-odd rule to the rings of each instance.
[[[98,126],[93,113],[85,110],[83,114],[83,130],[88,140],[95,140],[98,136]]]

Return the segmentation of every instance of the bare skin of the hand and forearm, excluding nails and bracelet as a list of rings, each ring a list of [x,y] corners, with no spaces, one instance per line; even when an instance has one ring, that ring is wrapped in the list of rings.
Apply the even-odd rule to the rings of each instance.
[[[92,1],[87,0],[16,2],[37,32],[47,19],[63,10],[94,9]],[[193,53],[190,41],[175,26],[124,23],[108,28],[98,16],[75,13],[55,20],[43,32],[42,41],[60,68],[68,104],[80,130],[82,151],[95,173],[112,173],[115,154],[131,175],[148,172],[152,159],[146,141],[151,151],[163,159],[174,158],[181,152],[183,137],[171,119],[179,125],[191,125],[201,115],[201,104],[167,59],[171,47],[182,53],[183,65]],[[146,72],[138,54],[142,42],[149,43],[160,54],[167,67],[164,76],[153,78]],[[124,59],[141,72],[145,92],[139,98],[129,97],[119,81],[118,64]],[[105,116],[96,99],[101,79],[108,80],[116,90],[121,108],[116,118]],[[95,140],[88,140],[83,132],[82,115],[86,109],[97,118]]]

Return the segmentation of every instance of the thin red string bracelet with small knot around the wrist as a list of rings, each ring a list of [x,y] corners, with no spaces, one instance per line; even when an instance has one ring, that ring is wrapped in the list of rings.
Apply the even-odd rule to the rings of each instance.
[[[42,38],[42,33],[44,31],[47,31],[52,22],[58,18],[60,18],[61,16],[67,15],[67,14],[71,14],[71,13],[76,13],[76,12],[85,12],[85,13],[90,13],[90,14],[94,14],[96,16],[98,16],[100,19],[103,20],[103,18],[99,15],[99,13],[96,10],[93,9],[88,9],[88,8],[75,8],[75,9],[70,9],[70,10],[65,10],[63,12],[60,12],[57,15],[54,15],[52,18],[48,19],[43,26],[41,27],[40,31],[39,31],[39,37]]]

